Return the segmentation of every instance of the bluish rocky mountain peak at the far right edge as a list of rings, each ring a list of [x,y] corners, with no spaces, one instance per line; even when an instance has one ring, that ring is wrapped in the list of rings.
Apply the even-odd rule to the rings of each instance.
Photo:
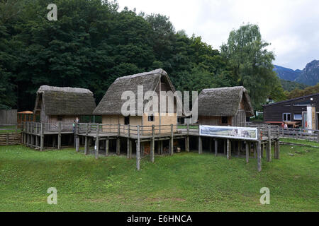
[[[306,65],[300,75],[294,80],[297,83],[316,85],[319,83],[319,61],[313,60]]]

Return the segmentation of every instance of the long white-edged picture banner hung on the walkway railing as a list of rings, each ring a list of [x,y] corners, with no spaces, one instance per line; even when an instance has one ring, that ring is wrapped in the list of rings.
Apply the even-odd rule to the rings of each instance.
[[[199,135],[257,141],[257,128],[200,125]]]

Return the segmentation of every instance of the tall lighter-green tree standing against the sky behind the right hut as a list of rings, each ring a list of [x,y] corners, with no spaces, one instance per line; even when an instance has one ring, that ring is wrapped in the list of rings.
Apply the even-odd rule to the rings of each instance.
[[[228,42],[221,46],[221,54],[228,60],[233,80],[247,88],[256,109],[266,98],[276,93],[284,95],[276,73],[272,70],[274,53],[265,49],[269,43],[262,40],[258,25],[242,25],[230,32]]]

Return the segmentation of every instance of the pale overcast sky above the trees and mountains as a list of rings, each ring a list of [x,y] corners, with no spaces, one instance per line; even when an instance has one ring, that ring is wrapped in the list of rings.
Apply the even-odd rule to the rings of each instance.
[[[161,13],[176,30],[201,36],[220,49],[229,32],[242,23],[259,25],[263,40],[272,45],[274,64],[303,69],[319,59],[318,0],[117,0],[122,10]]]

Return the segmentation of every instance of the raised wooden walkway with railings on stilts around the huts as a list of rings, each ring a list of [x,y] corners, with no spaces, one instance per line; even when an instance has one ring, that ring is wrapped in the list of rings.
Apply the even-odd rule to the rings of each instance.
[[[254,125],[250,126],[254,127]],[[198,153],[203,153],[203,139],[209,139],[209,149],[214,150],[215,155],[218,155],[218,149],[223,146],[223,154],[230,159],[233,153],[240,156],[243,148],[246,156],[246,161],[249,162],[250,153],[253,150],[254,156],[257,157],[258,171],[262,170],[262,155],[265,152],[267,161],[272,161],[272,145],[274,146],[274,158],[279,159],[279,126],[258,125],[257,140],[251,141],[245,138],[220,138],[214,136],[200,136],[199,126],[196,124],[186,125],[161,125],[161,126],[133,126],[123,124],[41,124],[29,122],[23,126],[23,143],[43,150],[45,136],[57,137],[57,148],[61,148],[62,135],[74,136],[74,146],[79,152],[80,139],[84,144],[84,154],[89,153],[89,144],[94,144],[94,153],[96,159],[99,157],[101,144],[105,148],[105,154],[109,153],[110,141],[116,140],[116,154],[121,153],[121,141],[125,139],[127,150],[126,155],[130,159],[133,157],[133,142],[135,142],[135,157],[136,167],[140,169],[140,160],[143,152],[141,150],[145,143],[150,142],[150,161],[155,162],[155,146],[157,153],[163,153],[163,141],[169,141],[169,155],[174,154],[174,140],[184,139],[186,152],[190,151],[190,138],[198,139]],[[52,142],[54,142],[53,139]],[[122,142],[123,143],[123,142]],[[155,144],[156,143],[156,144]],[[53,145],[54,146],[54,145]],[[50,148],[50,147],[49,147]],[[123,149],[123,148],[122,148]]]

